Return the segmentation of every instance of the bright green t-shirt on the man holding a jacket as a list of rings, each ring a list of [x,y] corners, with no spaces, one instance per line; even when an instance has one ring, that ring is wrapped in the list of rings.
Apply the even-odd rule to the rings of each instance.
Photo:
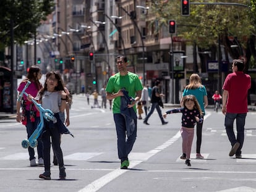
[[[120,73],[111,76],[108,80],[108,85],[106,86],[106,92],[117,93],[122,88],[125,88],[132,98],[135,98],[137,91],[143,90],[138,75],[131,72],[128,72],[125,76],[120,75]],[[121,97],[117,97],[113,101],[113,114],[120,114],[120,106]],[[136,105],[134,105],[134,111],[136,112]]]

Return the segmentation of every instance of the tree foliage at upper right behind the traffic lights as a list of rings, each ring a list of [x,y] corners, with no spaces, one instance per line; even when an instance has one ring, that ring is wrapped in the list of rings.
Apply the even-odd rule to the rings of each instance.
[[[197,2],[205,2],[197,0]],[[216,2],[208,0],[207,2]],[[223,0],[221,2],[230,2]],[[181,16],[181,1],[151,1],[149,14],[155,15],[159,33],[161,26],[168,25],[169,19],[176,20],[177,35],[182,36],[187,43],[197,43],[203,50],[216,52],[218,37],[233,59],[239,56],[247,57],[247,69],[250,57],[255,54],[255,0],[237,0],[245,6],[190,4],[190,16]],[[153,20],[152,24],[155,22]],[[232,48],[236,45],[237,48]],[[228,54],[226,54],[228,56]],[[228,59],[228,58],[224,58]]]

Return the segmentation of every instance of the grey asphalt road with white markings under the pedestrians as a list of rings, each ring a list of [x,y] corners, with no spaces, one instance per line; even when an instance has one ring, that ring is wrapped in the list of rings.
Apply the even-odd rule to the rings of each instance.
[[[20,144],[26,138],[25,127],[15,119],[0,120],[0,191],[256,191],[255,112],[247,114],[242,159],[235,159],[228,156],[224,115],[208,109],[203,124],[205,159],[195,159],[195,136],[191,167],[179,159],[181,114],[168,115],[169,123],[161,125],[155,112],[150,125],[138,120],[129,169],[120,170],[113,114],[109,108],[91,109],[85,100],[74,95],[69,129],[75,138],[62,136],[64,181],[58,180],[54,165],[52,180],[38,178],[43,167],[29,167],[27,149]]]

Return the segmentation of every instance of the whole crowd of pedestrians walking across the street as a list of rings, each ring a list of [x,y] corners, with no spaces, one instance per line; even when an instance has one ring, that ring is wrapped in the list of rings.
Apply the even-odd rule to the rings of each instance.
[[[138,75],[127,70],[128,60],[126,56],[116,57],[116,67],[118,73],[111,76],[106,86],[100,90],[101,108],[106,109],[106,102],[109,100],[109,109],[113,110],[114,123],[117,133],[117,154],[121,162],[121,169],[129,167],[129,153],[132,151],[137,138],[137,119],[143,119],[145,125],[150,125],[148,120],[153,112],[158,112],[162,125],[167,114],[182,113],[181,136],[182,155],[181,159],[191,166],[190,153],[194,138],[194,127],[196,126],[196,158],[204,159],[201,154],[203,117],[205,107],[208,106],[207,90],[202,85],[201,78],[197,73],[190,75],[189,84],[185,86],[180,101],[181,107],[171,109],[162,114],[161,105],[164,94],[161,93],[161,82],[153,82],[153,88],[143,85]],[[247,94],[250,89],[250,76],[243,72],[244,61],[237,59],[233,61],[232,69],[223,83],[223,96],[218,91],[213,94],[212,99],[220,102],[222,98],[222,112],[225,115],[224,127],[231,143],[229,156],[236,155],[242,157],[242,146],[244,143],[244,125],[247,115]],[[50,170],[50,149],[53,147],[54,165],[59,165],[59,178],[66,178],[66,168],[64,167],[63,154],[61,149],[61,127],[68,127],[69,107],[71,98],[69,91],[64,86],[61,75],[58,72],[48,72],[45,84],[41,85],[41,70],[37,65],[30,67],[27,77],[22,80],[18,87],[19,93],[23,90],[28,81],[31,84],[26,92],[28,96],[22,97],[22,101],[17,101],[17,122],[22,122],[27,130],[29,138],[40,123],[40,114],[33,104],[32,99],[40,102],[44,109],[50,109],[54,113],[57,122],[46,121],[43,133],[38,137],[38,160],[35,157],[35,150],[28,148],[30,166],[44,165],[45,172],[39,175],[45,180],[51,179]],[[83,90],[85,93],[85,90]],[[93,107],[100,107],[98,104],[98,91],[93,93]],[[90,94],[85,94],[87,103],[90,104]],[[112,103],[113,101],[113,103]],[[93,108],[92,107],[92,108]],[[20,111],[20,108],[22,111]],[[66,117],[64,111],[66,110]],[[138,110],[138,117],[137,117]],[[143,115],[145,114],[145,115]],[[236,120],[237,136],[234,133],[234,120]]]

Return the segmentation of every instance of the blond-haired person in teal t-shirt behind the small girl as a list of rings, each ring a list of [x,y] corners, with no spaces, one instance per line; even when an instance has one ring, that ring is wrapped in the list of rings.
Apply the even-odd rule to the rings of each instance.
[[[205,86],[202,85],[201,78],[197,73],[193,73],[189,77],[189,85],[185,86],[185,89],[183,91],[183,95],[181,98],[181,106],[184,107],[184,102],[183,102],[183,97],[192,94],[195,96],[197,99],[203,115],[205,115],[205,107],[208,106],[208,99],[207,99],[207,91],[205,89]],[[202,115],[202,118],[203,118]],[[202,144],[202,128],[203,128],[203,122],[198,123],[197,122],[197,154],[196,158],[197,159],[203,159],[202,154],[200,153],[201,151],[201,144]]]

